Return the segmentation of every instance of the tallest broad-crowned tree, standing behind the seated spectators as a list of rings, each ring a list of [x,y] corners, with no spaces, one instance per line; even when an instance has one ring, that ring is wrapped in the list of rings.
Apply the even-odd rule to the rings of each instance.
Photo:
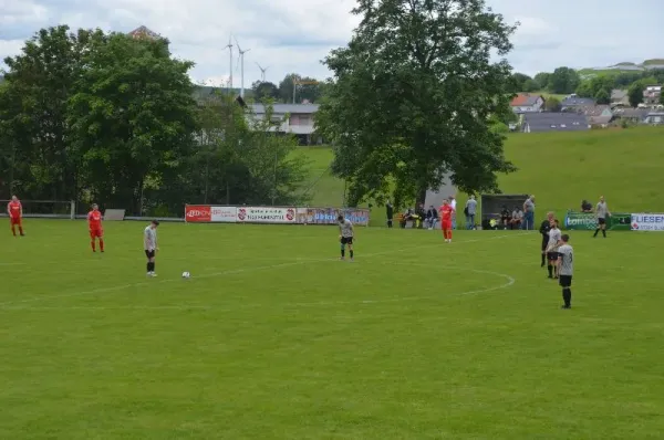
[[[333,172],[349,206],[372,197],[423,202],[446,175],[467,192],[497,191],[513,27],[483,0],[361,0],[361,24],[324,63],[335,81],[317,114],[335,145]],[[492,117],[494,116],[494,117]]]

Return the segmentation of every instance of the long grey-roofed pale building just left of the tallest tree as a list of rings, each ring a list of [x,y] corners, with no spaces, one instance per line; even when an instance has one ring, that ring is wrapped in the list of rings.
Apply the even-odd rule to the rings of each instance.
[[[250,108],[253,117],[260,119],[266,117],[266,108],[262,104],[251,104]],[[304,145],[321,144],[322,139],[314,136],[313,115],[318,109],[318,104],[274,104],[272,122],[278,124],[274,132],[293,134]]]

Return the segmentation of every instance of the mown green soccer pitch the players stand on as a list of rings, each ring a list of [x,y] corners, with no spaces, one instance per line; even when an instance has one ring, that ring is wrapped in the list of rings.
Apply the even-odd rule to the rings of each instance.
[[[0,438],[662,438],[664,234],[573,233],[561,311],[536,233],[143,227],[0,238]]]

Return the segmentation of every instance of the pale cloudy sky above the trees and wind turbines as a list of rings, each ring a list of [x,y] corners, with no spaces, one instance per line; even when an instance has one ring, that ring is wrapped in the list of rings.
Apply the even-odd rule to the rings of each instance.
[[[225,45],[243,50],[245,84],[287,73],[325,78],[321,65],[344,45],[357,19],[354,0],[0,0],[0,59],[15,55],[37,30],[55,24],[128,32],[142,24],[167,36],[175,55],[196,62],[191,77],[219,84],[229,74]],[[664,57],[664,0],[611,7],[599,0],[488,0],[508,22],[520,21],[509,61],[535,74],[560,65],[606,66]],[[234,42],[235,44],[235,42]],[[237,50],[237,49],[235,49]],[[237,63],[237,52],[234,55]],[[2,65],[0,63],[0,65]],[[239,71],[234,73],[239,86]]]

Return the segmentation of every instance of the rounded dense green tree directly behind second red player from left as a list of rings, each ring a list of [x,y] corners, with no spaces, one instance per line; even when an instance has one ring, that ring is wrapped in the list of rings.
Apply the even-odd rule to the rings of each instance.
[[[107,205],[142,214],[144,191],[184,164],[196,128],[187,75],[165,40],[111,34],[93,42],[71,97],[68,124],[87,189]]]

